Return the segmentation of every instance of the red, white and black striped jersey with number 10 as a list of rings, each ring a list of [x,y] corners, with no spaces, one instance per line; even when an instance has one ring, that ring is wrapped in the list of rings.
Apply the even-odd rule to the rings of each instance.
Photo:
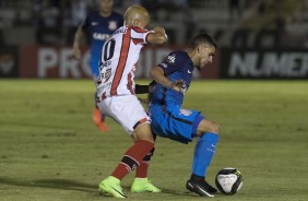
[[[134,94],[137,62],[151,32],[137,26],[122,26],[105,43],[97,80],[99,99]]]

